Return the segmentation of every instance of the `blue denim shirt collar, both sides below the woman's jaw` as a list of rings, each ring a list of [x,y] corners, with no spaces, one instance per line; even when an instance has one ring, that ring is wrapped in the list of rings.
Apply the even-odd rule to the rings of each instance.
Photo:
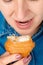
[[[41,23],[41,27],[38,30],[38,32],[36,34],[34,34],[32,36],[33,39],[37,38],[37,36],[39,36],[39,34],[41,34],[43,32],[43,22]],[[2,13],[0,13],[0,37],[5,35],[5,34],[15,34],[16,36],[19,36],[20,34],[17,33],[5,20],[4,16],[2,15]]]

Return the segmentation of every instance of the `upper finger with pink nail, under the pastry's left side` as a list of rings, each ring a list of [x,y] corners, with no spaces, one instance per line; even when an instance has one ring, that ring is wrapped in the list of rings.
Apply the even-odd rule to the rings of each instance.
[[[2,61],[3,64],[8,64],[8,63],[17,61],[20,58],[21,58],[21,55],[19,55],[19,54],[13,54],[13,55],[9,55],[7,57],[1,58],[1,61]]]

